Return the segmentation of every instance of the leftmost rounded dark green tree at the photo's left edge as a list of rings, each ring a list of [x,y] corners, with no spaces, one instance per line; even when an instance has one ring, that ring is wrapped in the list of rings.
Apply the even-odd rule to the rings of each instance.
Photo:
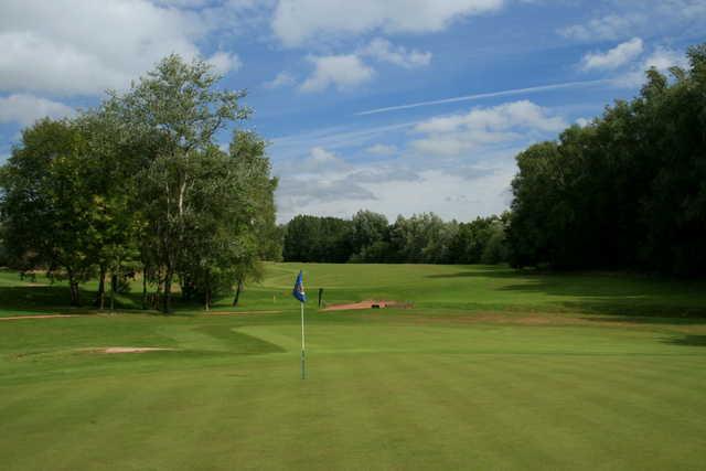
[[[71,304],[93,269],[100,202],[92,188],[86,141],[68,120],[43,119],[22,132],[0,181],[6,244],[12,266],[39,266],[68,280]]]

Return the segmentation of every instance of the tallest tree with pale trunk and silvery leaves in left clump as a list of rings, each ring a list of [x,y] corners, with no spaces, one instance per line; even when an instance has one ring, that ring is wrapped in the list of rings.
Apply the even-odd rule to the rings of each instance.
[[[146,202],[142,211],[148,231],[154,234],[151,253],[163,267],[160,283],[165,312],[170,311],[172,282],[184,247],[193,245],[188,220],[199,184],[195,161],[211,152],[220,130],[250,114],[239,105],[245,92],[216,89],[220,78],[203,61],[188,64],[170,55],[127,94],[111,93],[106,104],[149,152],[139,186],[150,197],[141,200]]]

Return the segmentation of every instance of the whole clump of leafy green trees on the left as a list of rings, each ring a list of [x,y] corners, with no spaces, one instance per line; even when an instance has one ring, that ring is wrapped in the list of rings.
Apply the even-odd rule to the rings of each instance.
[[[143,307],[165,312],[174,282],[208,308],[257,278],[259,261],[281,253],[277,180],[255,132],[216,144],[250,115],[245,93],[218,89],[220,78],[171,55],[98,107],[24,129],[0,170],[0,255],[67,280],[74,306],[95,276],[98,307],[108,283],[119,291],[139,271]]]

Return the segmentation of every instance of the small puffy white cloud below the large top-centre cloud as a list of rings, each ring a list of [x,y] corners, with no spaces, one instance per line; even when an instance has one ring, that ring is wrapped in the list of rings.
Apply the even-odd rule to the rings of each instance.
[[[329,86],[341,90],[352,88],[368,82],[375,75],[375,71],[353,54],[311,56],[309,60],[314,64],[314,71],[301,84],[302,92],[321,92]]]

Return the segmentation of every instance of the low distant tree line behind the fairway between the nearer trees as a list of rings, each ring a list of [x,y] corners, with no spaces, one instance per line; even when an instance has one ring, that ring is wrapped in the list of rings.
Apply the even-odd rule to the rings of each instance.
[[[507,260],[509,215],[470,223],[436,214],[398,216],[360,211],[351,220],[296,216],[284,227],[287,261],[366,264],[498,264]]]

